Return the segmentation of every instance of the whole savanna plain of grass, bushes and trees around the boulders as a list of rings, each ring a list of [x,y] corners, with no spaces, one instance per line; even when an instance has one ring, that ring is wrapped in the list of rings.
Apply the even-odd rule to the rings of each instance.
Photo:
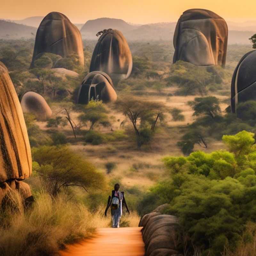
[[[109,227],[102,216],[118,182],[132,212],[121,226],[137,226],[139,215],[168,204],[165,213],[184,229],[187,255],[256,255],[256,103],[239,105],[237,116],[229,107],[234,68],[252,47],[229,45],[223,69],[172,65],[171,42],[128,43],[133,70],[115,84],[116,103],[80,106],[76,96],[96,41],[84,41],[84,68],[76,56],[47,53],[29,69],[34,41],[0,40],[0,61],[17,94],[38,92],[53,112],[46,122],[24,115],[33,157],[26,182],[35,203],[24,210],[10,195],[0,213],[0,254],[55,255]],[[64,64],[76,76],[54,71]]]

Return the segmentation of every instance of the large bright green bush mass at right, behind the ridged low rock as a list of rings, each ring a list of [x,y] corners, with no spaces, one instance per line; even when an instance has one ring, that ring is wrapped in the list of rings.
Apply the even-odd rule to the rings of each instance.
[[[256,147],[254,134],[223,136],[229,151],[197,151],[188,157],[165,157],[169,180],[159,183],[139,205],[150,211],[168,203],[194,248],[202,255],[235,251],[248,221],[256,222]],[[152,200],[154,199],[154,200]],[[157,202],[157,203],[156,203]]]

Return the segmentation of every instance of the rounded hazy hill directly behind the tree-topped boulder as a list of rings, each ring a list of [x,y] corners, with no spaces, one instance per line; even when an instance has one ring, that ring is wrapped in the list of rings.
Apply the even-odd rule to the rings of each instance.
[[[108,28],[118,29],[124,33],[133,30],[136,26],[130,25],[120,19],[100,18],[96,20],[88,20],[80,31],[83,37],[89,37],[91,39],[92,37],[95,38],[95,35],[99,31]]]

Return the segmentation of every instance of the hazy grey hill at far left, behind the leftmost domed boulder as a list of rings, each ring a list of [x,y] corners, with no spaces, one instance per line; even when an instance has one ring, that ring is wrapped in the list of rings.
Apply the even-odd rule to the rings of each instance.
[[[33,34],[31,34],[33,33]],[[14,22],[0,20],[0,38],[18,39],[21,37],[31,38],[36,36],[36,28]]]

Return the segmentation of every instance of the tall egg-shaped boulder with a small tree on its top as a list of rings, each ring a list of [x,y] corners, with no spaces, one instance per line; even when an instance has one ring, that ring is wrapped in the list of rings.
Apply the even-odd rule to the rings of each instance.
[[[90,72],[103,71],[115,80],[129,77],[132,54],[123,34],[116,29],[103,30],[101,33],[92,54]]]

